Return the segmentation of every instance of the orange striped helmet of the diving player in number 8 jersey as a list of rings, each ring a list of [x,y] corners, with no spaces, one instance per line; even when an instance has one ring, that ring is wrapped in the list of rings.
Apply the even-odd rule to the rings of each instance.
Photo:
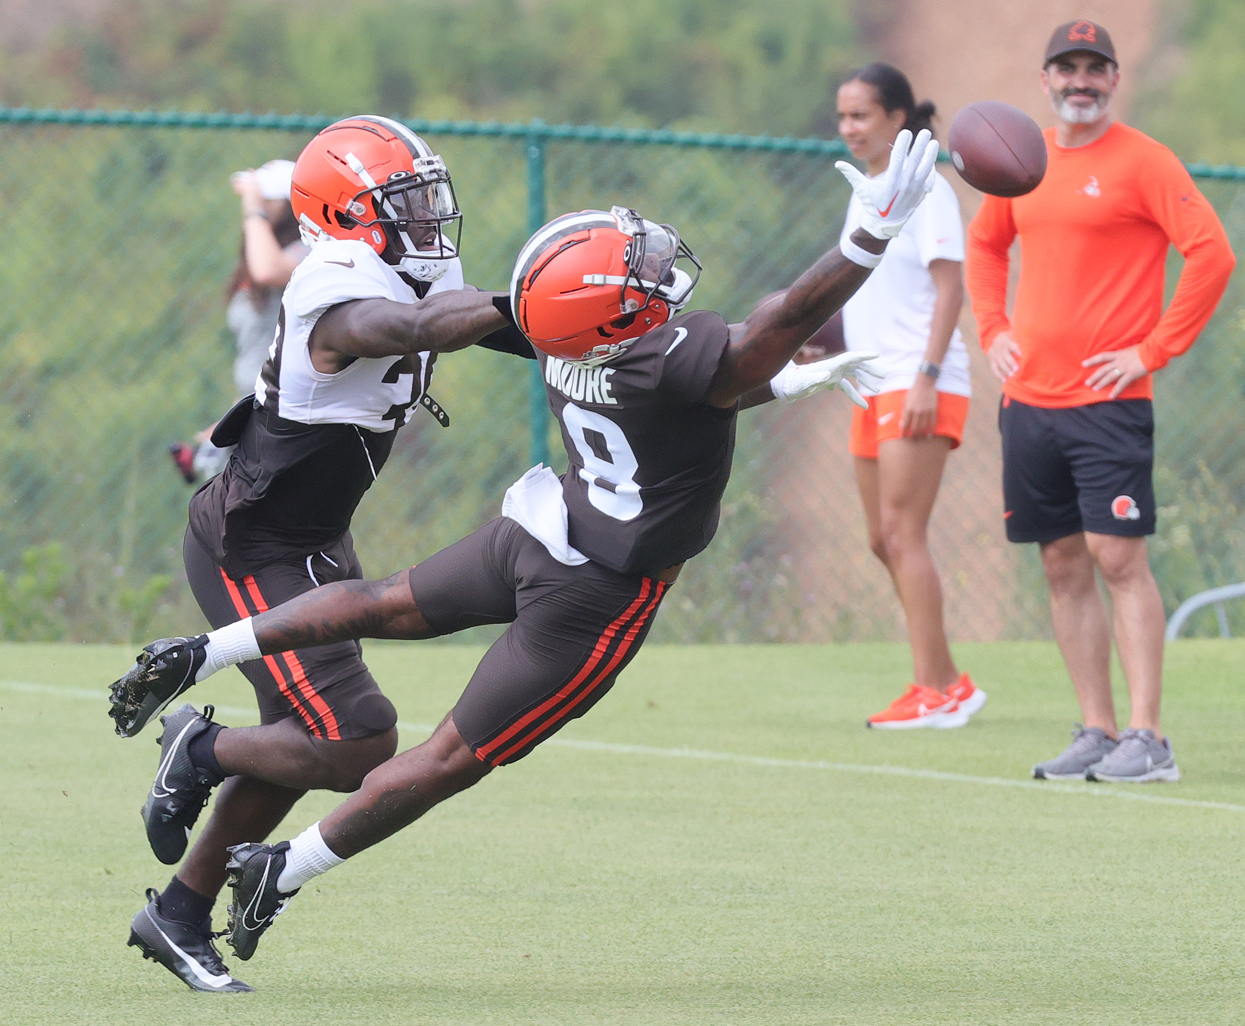
[[[679,259],[695,275],[676,268]],[[679,313],[700,273],[671,225],[627,207],[581,210],[528,239],[510,278],[510,306],[542,352],[595,366]]]

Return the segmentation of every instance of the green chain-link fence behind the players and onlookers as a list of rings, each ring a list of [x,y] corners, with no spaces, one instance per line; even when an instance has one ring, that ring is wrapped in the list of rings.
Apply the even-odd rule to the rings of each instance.
[[[189,489],[167,446],[233,400],[228,176],[293,158],[325,123],[0,110],[0,636],[127,639],[200,623],[181,568]],[[705,263],[696,305],[737,319],[837,240],[848,198],[833,169],[842,147],[817,139],[410,123],[451,168],[467,280],[482,288],[505,286],[547,213],[626,203],[679,227]],[[1233,239],[1245,238],[1245,171],[1194,171]],[[1152,552],[1169,609],[1245,580],[1243,303],[1238,278],[1201,341],[1158,379]],[[1002,534],[997,387],[970,354],[969,431],[933,523],[949,628],[961,640],[1046,636],[1036,553]],[[496,515],[537,459],[552,452],[565,466],[525,362],[446,356],[433,392],[452,427],[417,415],[356,517],[374,575]],[[849,412],[834,393],[741,416],[720,534],[688,564],[655,638],[901,636],[865,542]],[[1234,615],[1245,626],[1245,610]],[[1213,614],[1191,626],[1209,633]]]

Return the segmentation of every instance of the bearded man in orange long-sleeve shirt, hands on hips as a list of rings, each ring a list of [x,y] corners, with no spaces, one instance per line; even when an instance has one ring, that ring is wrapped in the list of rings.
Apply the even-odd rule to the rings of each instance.
[[[1084,727],[1043,778],[1175,781],[1159,727],[1163,603],[1145,535],[1154,533],[1150,374],[1205,326],[1235,259],[1215,212],[1167,147],[1113,121],[1119,68],[1092,21],[1055,30],[1042,88],[1046,178],[1017,199],[986,197],[969,229],[967,285],[981,345],[1003,382],[1007,538],[1037,542],[1055,636]],[[1021,274],[1007,316],[1008,249]],[[1168,245],[1185,258],[1167,311]],[[1132,701],[1117,730],[1111,633],[1094,570],[1111,591]]]

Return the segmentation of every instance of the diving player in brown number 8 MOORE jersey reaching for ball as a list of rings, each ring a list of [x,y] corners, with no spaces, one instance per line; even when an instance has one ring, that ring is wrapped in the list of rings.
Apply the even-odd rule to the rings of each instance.
[[[254,954],[308,880],[523,758],[613,686],[684,560],[713,537],[738,411],[839,384],[872,355],[789,362],[933,187],[937,144],[929,132],[911,151],[910,142],[900,133],[875,179],[840,162],[862,228],[743,324],[680,314],[696,279],[676,263],[700,265],[674,228],[635,210],[568,214],[533,235],[515,264],[512,308],[539,351],[568,472],[533,468],[499,518],[420,565],[213,631],[187,664],[202,677],[291,645],[509,624],[423,745],[374,770],[293,842],[230,849],[229,943],[239,958]],[[176,674],[162,676],[167,687]]]

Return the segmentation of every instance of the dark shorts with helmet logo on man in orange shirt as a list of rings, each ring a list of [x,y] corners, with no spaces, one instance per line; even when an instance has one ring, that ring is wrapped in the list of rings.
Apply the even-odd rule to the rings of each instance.
[[[1047,410],[1005,397],[998,431],[1008,542],[1053,542],[1082,530],[1154,533],[1148,398]]]

